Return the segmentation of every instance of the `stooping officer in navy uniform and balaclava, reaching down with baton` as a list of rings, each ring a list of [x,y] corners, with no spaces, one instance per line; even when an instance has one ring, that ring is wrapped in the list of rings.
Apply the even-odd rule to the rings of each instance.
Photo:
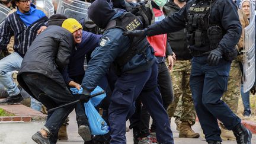
[[[126,120],[134,113],[134,103],[139,94],[153,119],[161,117],[155,119],[158,142],[174,143],[157,87],[154,51],[146,39],[129,39],[122,34],[124,30],[141,29],[143,24],[130,13],[114,11],[105,0],[92,2],[88,16],[100,28],[105,28],[105,33],[100,45],[92,52],[92,59],[82,81],[82,94],[88,97],[108,69],[116,68],[119,76],[108,108],[110,143],[126,143]]]

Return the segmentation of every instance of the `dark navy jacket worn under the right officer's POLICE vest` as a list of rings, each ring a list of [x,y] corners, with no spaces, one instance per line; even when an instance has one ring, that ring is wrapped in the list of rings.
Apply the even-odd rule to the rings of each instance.
[[[188,10],[194,2],[201,1],[188,1],[187,5],[181,8],[180,11],[174,12],[174,14],[169,15],[159,23],[149,25],[147,35],[155,36],[184,29]],[[215,23],[221,24],[224,30],[223,38],[219,41],[217,47],[220,47],[224,53],[233,52],[234,47],[240,39],[242,26],[239,21],[236,5],[232,1],[216,0],[215,4],[212,5],[210,9],[209,25]],[[209,47],[209,44],[200,47],[190,45],[191,50],[199,50],[202,52],[205,52],[205,49],[209,49]]]

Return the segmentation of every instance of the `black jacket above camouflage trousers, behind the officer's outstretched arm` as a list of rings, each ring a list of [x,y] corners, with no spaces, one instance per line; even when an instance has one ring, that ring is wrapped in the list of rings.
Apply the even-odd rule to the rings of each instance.
[[[178,7],[178,5],[173,1],[169,1],[164,6],[164,14],[167,16],[172,15],[174,12],[179,10],[180,7]],[[185,28],[180,31],[168,33],[168,43],[170,44],[172,51],[175,53],[177,60],[188,60],[192,58],[190,50],[188,50],[187,44],[185,43],[185,35]]]

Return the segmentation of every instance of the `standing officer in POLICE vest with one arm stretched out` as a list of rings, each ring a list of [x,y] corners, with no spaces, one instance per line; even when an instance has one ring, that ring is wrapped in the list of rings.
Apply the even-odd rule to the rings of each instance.
[[[124,35],[143,37],[187,28],[187,43],[193,55],[190,87],[194,107],[208,143],[221,143],[217,119],[232,130],[237,143],[251,143],[251,132],[222,101],[235,45],[241,36],[235,4],[222,0],[192,0],[159,23]]]

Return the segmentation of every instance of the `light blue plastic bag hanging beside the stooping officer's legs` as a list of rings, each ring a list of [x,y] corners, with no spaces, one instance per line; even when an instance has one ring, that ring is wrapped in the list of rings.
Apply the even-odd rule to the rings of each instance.
[[[84,103],[84,107],[92,135],[104,135],[108,133],[109,127],[107,126],[107,123],[100,116],[94,105],[92,105],[91,100],[89,100],[87,103]]]

